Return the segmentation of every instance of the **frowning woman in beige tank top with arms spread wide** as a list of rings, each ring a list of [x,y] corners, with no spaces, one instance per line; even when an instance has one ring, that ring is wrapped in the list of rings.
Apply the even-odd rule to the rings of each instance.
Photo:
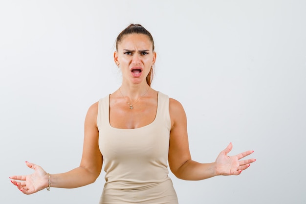
[[[35,170],[33,174],[10,177],[22,193],[87,185],[97,179],[104,163],[106,183],[100,204],[177,204],[167,162],[177,178],[203,180],[239,175],[255,161],[240,160],[253,151],[227,156],[231,143],[215,162],[191,159],[182,105],[150,86],[156,53],[144,27],[131,24],[124,29],[117,37],[113,57],[122,72],[122,85],[88,109],[80,166],[48,174],[26,162]]]

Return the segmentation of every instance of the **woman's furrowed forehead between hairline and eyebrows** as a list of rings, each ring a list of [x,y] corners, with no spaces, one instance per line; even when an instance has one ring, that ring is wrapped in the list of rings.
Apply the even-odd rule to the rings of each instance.
[[[149,37],[144,34],[128,34],[122,38],[120,44],[118,44],[120,49],[152,49],[153,44]]]

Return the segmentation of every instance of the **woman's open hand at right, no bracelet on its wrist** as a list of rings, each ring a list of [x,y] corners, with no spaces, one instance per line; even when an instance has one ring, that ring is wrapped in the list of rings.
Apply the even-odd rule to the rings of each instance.
[[[246,151],[235,156],[227,156],[232,150],[233,145],[230,143],[222,152],[220,152],[216,159],[216,173],[217,175],[240,175],[240,173],[250,166],[250,163],[256,161],[256,159],[240,160],[254,151]]]

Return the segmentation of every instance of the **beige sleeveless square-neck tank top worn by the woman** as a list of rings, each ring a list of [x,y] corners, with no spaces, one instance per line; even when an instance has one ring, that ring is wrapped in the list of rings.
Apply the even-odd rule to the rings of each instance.
[[[170,180],[167,164],[171,128],[168,95],[158,92],[154,121],[135,129],[110,126],[108,95],[99,100],[97,126],[108,187],[143,189]]]

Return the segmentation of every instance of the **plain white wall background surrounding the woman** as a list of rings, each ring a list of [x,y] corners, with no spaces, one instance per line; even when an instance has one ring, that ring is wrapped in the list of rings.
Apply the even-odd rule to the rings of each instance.
[[[115,91],[115,38],[153,35],[153,88],[180,101],[193,159],[254,150],[240,176],[173,179],[180,204],[305,204],[305,0],[1,0],[0,203],[97,204],[98,180],[23,195],[24,161],[79,165],[88,107]],[[249,157],[250,158],[250,157]]]

